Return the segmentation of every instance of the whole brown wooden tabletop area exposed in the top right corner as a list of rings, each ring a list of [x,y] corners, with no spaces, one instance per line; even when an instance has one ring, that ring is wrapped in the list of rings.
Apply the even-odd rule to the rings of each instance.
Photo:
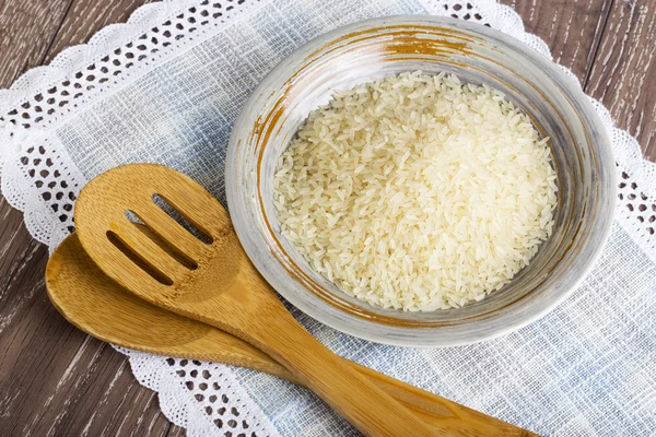
[[[656,161],[656,2],[502,0]]]

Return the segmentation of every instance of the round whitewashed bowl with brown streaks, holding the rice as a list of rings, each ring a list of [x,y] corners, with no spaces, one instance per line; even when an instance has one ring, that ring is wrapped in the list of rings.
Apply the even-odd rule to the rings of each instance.
[[[460,309],[383,309],[315,273],[280,234],[272,202],[278,157],[311,110],[335,90],[390,74],[454,72],[506,94],[551,138],[559,205],[553,235],[513,281]],[[558,66],[478,24],[408,15],[338,28],[301,47],[269,73],[242,109],[226,161],[230,213],[263,277],[315,319],[363,339],[407,346],[472,343],[516,330],[562,302],[608,237],[614,160],[588,98]]]

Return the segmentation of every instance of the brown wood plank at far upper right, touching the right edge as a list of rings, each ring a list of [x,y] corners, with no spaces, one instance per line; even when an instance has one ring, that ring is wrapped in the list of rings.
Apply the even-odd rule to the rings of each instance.
[[[656,162],[656,3],[614,1],[585,91]]]

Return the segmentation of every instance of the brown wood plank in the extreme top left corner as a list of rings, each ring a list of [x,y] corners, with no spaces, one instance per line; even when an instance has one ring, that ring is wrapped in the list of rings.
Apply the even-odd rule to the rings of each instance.
[[[71,0],[0,0],[0,88],[40,66]]]

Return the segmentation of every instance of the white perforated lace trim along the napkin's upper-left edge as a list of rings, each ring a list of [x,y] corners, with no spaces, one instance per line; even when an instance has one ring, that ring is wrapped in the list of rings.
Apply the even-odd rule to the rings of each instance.
[[[136,80],[169,55],[183,52],[246,17],[269,0],[165,0],[132,13],[69,47],[0,91],[0,120],[15,127],[54,126],[93,97]],[[147,29],[147,31],[144,31]],[[194,43],[189,43],[194,42]],[[184,50],[180,50],[184,49]]]

